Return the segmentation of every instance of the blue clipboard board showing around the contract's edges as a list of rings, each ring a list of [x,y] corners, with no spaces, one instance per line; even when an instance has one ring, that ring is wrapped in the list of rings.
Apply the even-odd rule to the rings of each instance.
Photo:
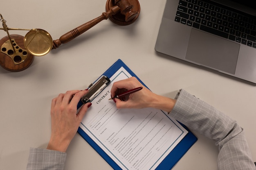
[[[132,76],[136,77],[141,84],[145,87],[146,85],[128,68],[128,66],[118,59],[106,72],[102,75],[111,77],[113,74],[117,72],[121,67],[125,68],[127,72],[129,72]],[[181,124],[181,123],[180,123]],[[181,124],[184,126],[183,124]],[[189,131],[189,129],[184,126],[184,128],[189,132],[187,135],[180,141],[179,144],[169,153],[165,159],[157,166],[156,170],[170,170],[173,166],[181,159],[181,157],[189,150],[189,148],[197,141],[197,137]],[[108,164],[114,168],[115,170],[121,170],[121,168],[113,161],[80,127],[77,131],[91,146],[94,150],[108,162]]]

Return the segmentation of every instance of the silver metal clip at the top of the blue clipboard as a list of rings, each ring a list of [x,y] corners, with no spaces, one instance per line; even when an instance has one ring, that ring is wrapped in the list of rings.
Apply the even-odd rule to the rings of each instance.
[[[108,86],[109,83],[110,79],[107,76],[101,76],[88,87],[88,93],[81,98],[81,101],[84,104],[91,102],[103,89],[105,89],[105,87]]]

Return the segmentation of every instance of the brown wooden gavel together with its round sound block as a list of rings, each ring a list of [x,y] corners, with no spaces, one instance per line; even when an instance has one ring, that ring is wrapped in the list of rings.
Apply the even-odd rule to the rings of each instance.
[[[53,41],[54,49],[58,48],[61,44],[65,44],[72,39],[78,37],[88,29],[92,28],[102,20],[107,20],[110,17],[110,20],[119,25],[128,25],[134,22],[139,16],[140,7],[138,0],[115,0],[114,4],[112,3],[114,0],[108,0],[106,3],[106,11],[102,13],[101,16],[86,22],[85,24],[74,28],[73,30],[65,33],[59,39]],[[132,3],[130,3],[132,2]],[[119,17],[118,13],[121,13],[121,17]],[[116,15],[116,17],[112,17],[112,15]],[[120,22],[121,21],[121,22]]]

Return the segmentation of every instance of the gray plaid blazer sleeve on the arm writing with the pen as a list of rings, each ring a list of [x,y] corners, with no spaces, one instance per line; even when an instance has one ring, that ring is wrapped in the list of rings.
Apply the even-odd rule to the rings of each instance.
[[[256,170],[243,129],[211,105],[181,89],[170,117],[215,140],[219,170]]]

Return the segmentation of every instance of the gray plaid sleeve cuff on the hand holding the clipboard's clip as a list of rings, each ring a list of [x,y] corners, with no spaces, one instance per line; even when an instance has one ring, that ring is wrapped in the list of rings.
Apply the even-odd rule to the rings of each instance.
[[[30,148],[27,170],[63,170],[66,153],[42,148]]]

